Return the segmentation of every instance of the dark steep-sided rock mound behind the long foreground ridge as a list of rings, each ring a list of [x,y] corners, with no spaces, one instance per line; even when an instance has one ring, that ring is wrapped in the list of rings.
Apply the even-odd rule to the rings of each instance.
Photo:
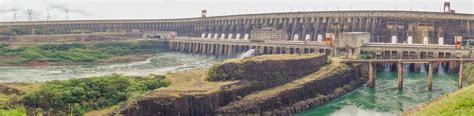
[[[272,87],[306,76],[325,65],[326,56],[286,60],[244,60],[230,62],[210,69],[209,76],[218,75],[211,81],[243,80]]]

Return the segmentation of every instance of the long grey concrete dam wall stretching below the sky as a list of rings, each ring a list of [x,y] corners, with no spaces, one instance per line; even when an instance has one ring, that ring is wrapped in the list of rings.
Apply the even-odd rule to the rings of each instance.
[[[338,32],[370,32],[373,42],[398,42],[413,38],[413,43],[453,44],[455,35],[474,38],[474,15],[419,11],[319,11],[215,16],[205,18],[151,20],[77,20],[1,22],[0,31],[9,28],[46,30],[61,34],[75,30],[113,31],[176,31],[179,36],[213,39],[252,38],[251,30],[274,28],[284,30],[287,40],[316,40],[319,35]]]

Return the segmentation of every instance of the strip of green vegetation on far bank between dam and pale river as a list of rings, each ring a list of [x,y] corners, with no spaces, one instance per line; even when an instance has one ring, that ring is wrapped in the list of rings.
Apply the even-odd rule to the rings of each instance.
[[[98,44],[55,44],[39,45],[11,49],[7,45],[0,45],[1,56],[16,56],[20,59],[6,62],[9,64],[22,64],[29,61],[47,62],[94,62],[122,56],[130,53],[155,52],[166,49],[166,44],[156,41],[139,42],[113,42]]]

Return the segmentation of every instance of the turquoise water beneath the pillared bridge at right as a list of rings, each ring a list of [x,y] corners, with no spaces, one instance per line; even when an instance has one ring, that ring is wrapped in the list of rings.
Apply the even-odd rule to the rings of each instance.
[[[433,91],[427,88],[426,73],[405,73],[403,91],[397,90],[397,73],[377,73],[376,87],[367,85],[324,105],[298,113],[300,116],[399,115],[419,103],[457,90],[456,74],[433,74]]]

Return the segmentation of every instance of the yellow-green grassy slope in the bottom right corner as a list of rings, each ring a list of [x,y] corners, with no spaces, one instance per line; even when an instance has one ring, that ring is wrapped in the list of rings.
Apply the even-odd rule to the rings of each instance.
[[[463,116],[474,114],[474,86],[469,86],[454,94],[444,96],[415,112],[416,116]]]

